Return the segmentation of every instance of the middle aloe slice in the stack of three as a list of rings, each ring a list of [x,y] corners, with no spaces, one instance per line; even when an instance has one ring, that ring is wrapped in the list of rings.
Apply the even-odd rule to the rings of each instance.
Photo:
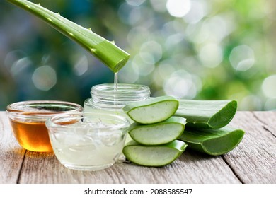
[[[186,120],[183,117],[170,117],[163,122],[154,124],[138,124],[134,122],[130,125],[130,137],[139,144],[158,145],[167,144],[183,133]]]

